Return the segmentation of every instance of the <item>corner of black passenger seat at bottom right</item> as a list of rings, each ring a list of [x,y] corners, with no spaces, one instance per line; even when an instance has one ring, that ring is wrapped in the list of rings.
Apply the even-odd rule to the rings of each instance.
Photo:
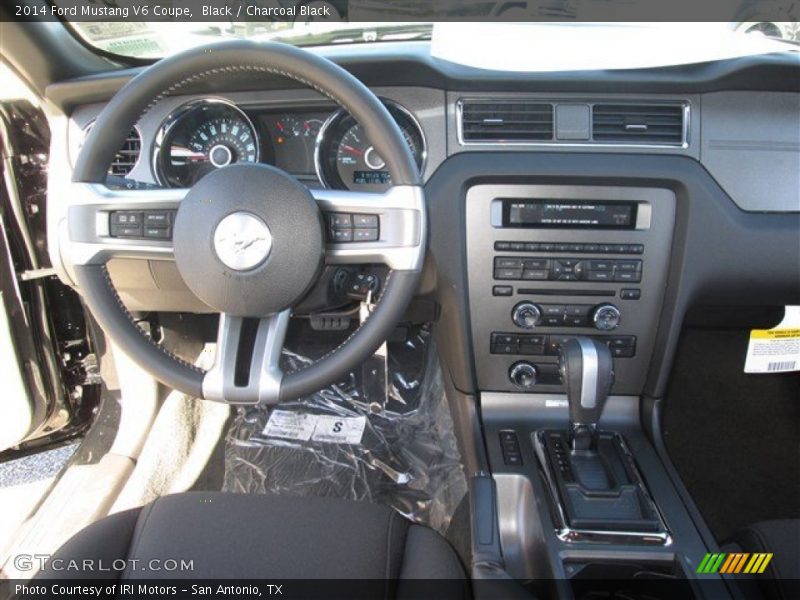
[[[747,598],[800,598],[800,519],[761,521],[739,531],[722,546],[726,552],[772,553],[761,575],[740,578]]]

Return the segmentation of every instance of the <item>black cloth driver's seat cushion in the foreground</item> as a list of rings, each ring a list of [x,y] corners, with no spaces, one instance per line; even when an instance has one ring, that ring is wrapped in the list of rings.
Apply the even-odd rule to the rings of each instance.
[[[57,559],[62,559],[57,563]],[[193,561],[190,571],[70,572],[69,560]],[[464,570],[435,531],[377,504],[318,497],[190,492],[106,517],[79,532],[39,575],[119,579],[446,579]],[[401,586],[397,586],[397,594]],[[442,586],[437,586],[442,589]],[[387,594],[394,596],[395,593]]]

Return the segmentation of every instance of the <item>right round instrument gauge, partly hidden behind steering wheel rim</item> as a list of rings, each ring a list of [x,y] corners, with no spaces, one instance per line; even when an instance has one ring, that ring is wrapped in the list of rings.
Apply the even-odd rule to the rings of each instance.
[[[397,104],[385,102],[400,126],[420,171],[425,161],[425,138],[416,119]],[[317,138],[317,175],[327,187],[381,192],[391,186],[386,162],[361,126],[343,110],[322,126]]]

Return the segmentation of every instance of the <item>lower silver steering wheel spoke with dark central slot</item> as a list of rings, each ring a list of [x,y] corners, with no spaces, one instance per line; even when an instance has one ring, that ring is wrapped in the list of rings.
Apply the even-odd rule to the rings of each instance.
[[[261,319],[221,314],[217,354],[203,377],[203,397],[230,404],[276,404],[290,317],[291,310]]]

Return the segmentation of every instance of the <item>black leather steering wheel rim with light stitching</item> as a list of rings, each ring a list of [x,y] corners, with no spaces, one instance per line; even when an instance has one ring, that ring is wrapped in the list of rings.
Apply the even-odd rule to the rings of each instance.
[[[314,393],[367,359],[402,318],[421,275],[426,246],[426,211],[420,174],[403,135],[378,98],[350,73],[308,51],[285,44],[232,41],[192,49],[148,67],[106,105],[83,144],[73,171],[75,185],[94,186],[106,178],[108,165],[126,132],[161,98],[184,86],[226,74],[279,75],[324,94],[350,112],[384,158],[393,188],[411,190],[419,203],[418,255],[403,268],[392,268],[374,310],[339,347],[312,365],[281,374],[277,386],[257,398],[228,398],[209,393],[205,372],[152,341],[136,325],[114,288],[105,263],[73,265],[75,282],[100,326],[134,361],[158,381],[195,397],[233,403],[275,403]],[[82,189],[83,189],[82,188]],[[74,220],[70,213],[70,221]],[[74,229],[69,223],[70,231]],[[225,315],[221,316],[223,319]],[[280,323],[280,321],[279,321]],[[288,314],[283,325],[288,323]],[[222,324],[221,324],[222,327]],[[275,325],[270,325],[274,328]],[[281,339],[282,346],[282,339]],[[218,348],[219,352],[219,348]],[[278,352],[279,353],[279,352]],[[213,371],[213,369],[212,369]]]

